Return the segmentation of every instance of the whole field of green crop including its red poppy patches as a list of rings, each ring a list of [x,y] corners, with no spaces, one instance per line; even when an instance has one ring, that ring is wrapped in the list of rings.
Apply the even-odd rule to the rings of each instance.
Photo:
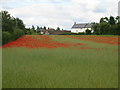
[[[24,35],[2,46],[2,87],[117,88],[118,38]]]

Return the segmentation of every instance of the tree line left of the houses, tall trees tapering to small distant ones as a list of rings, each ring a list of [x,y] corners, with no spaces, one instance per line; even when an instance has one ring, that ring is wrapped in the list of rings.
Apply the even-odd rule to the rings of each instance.
[[[0,16],[2,21],[0,23],[2,25],[0,29],[2,31],[2,45],[18,39],[22,35],[40,35],[41,30],[47,30],[46,26],[37,26],[35,29],[35,26],[32,25],[31,28],[26,28],[20,18],[11,16],[8,11],[1,11]],[[60,30],[60,28],[57,27],[56,30]]]

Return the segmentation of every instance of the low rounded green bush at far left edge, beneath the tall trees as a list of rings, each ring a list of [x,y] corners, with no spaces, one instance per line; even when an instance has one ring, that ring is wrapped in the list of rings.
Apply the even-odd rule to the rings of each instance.
[[[12,35],[9,32],[2,32],[2,45],[12,41]]]

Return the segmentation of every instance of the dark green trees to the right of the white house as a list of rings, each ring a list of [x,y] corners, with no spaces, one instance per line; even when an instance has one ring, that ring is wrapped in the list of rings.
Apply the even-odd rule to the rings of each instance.
[[[120,35],[120,17],[113,16],[101,18],[99,23],[94,23],[94,34],[97,35]]]

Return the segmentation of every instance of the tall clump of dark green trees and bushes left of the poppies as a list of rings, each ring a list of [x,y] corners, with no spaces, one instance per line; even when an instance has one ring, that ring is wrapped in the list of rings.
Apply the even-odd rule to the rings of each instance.
[[[2,15],[2,44],[6,44],[27,34],[27,30],[21,19],[14,18],[8,11],[1,11],[0,15]]]

